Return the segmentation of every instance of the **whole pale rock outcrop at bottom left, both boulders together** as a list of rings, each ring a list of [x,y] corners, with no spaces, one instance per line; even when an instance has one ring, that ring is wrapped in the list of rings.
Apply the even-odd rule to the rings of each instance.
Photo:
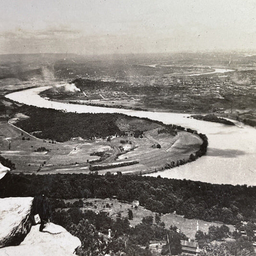
[[[37,197],[0,198],[0,256],[71,256],[81,246],[79,238],[63,227],[47,223],[39,231],[47,209]],[[34,216],[35,215],[35,216]]]

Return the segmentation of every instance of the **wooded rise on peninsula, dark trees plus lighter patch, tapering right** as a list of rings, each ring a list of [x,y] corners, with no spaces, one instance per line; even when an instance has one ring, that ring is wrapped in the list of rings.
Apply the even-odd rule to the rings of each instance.
[[[146,131],[150,127],[157,127],[155,124],[158,124],[158,127],[166,126],[162,122],[147,118],[131,117],[120,113],[71,113],[26,105],[17,109],[16,112],[29,116],[28,119],[17,122],[16,125],[18,127],[28,133],[37,132],[36,136],[38,138],[51,139],[59,142],[64,142],[75,137],[92,139],[94,137],[106,138],[115,134],[124,135],[125,129],[118,122],[120,119],[127,124],[127,127],[132,127],[134,131]],[[169,129],[184,130],[179,125],[173,125],[173,127],[169,125]]]

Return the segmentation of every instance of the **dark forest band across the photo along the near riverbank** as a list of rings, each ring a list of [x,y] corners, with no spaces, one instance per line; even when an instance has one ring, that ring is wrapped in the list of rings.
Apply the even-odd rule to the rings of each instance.
[[[134,170],[135,171],[135,170]],[[15,189],[13,189],[15,187]],[[184,215],[188,219],[235,224],[256,222],[256,187],[220,185],[188,180],[144,176],[91,174],[15,175],[0,180],[0,197],[111,198],[139,200],[141,206],[158,213]]]

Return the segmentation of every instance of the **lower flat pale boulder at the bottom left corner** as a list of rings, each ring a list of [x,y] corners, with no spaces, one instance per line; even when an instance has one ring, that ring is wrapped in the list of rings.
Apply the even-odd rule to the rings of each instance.
[[[81,246],[79,238],[71,235],[61,226],[49,223],[50,229],[60,233],[39,232],[39,224],[33,226],[24,241],[18,246],[0,249],[0,255],[9,256],[74,256],[74,251]],[[52,230],[51,230],[52,231]]]

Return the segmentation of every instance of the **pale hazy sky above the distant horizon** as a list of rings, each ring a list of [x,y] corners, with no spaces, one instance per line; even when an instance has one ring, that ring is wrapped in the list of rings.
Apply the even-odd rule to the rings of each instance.
[[[256,0],[0,0],[0,54],[256,49]]]

